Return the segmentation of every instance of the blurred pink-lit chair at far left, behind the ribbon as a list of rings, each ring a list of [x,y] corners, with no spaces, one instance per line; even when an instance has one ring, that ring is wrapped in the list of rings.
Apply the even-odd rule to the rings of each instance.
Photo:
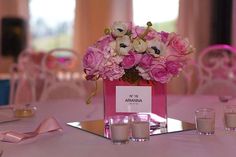
[[[42,92],[43,79],[39,60],[45,53],[23,50],[10,68],[10,104],[37,101]]]

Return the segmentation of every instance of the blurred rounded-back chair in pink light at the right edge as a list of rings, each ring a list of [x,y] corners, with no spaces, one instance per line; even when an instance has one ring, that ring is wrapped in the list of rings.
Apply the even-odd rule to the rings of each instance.
[[[236,95],[236,49],[211,45],[199,53],[196,94]]]

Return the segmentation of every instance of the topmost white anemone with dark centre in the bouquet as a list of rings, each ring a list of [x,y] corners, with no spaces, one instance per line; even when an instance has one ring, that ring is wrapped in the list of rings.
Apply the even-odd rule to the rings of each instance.
[[[122,37],[124,36],[127,31],[128,31],[128,25],[124,22],[121,22],[121,21],[117,21],[117,22],[114,22],[112,27],[112,34],[116,37]]]

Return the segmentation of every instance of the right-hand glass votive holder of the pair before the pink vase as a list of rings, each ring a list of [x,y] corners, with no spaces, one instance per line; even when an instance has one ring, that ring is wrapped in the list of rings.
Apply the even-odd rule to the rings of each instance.
[[[150,115],[133,114],[130,116],[132,141],[148,141],[150,138]]]

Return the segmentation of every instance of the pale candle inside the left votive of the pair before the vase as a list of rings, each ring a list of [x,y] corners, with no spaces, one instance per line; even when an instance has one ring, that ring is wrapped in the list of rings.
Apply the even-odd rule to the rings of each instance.
[[[111,124],[111,139],[114,143],[127,143],[129,141],[129,124]]]

